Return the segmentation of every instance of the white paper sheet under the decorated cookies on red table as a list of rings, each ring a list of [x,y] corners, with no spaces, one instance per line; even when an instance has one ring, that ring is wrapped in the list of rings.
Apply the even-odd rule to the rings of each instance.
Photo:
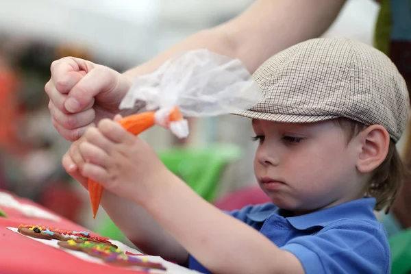
[[[12,232],[16,232],[18,234],[20,234],[21,236],[25,236],[19,232],[17,232],[17,228],[15,227],[7,227],[8,229],[10,229]],[[100,258],[95,258],[92,257],[90,255],[88,255],[87,253],[84,253],[82,251],[73,251],[73,250],[69,250],[69,249],[63,249],[61,248],[57,243],[59,242],[59,240],[44,240],[44,239],[38,239],[38,238],[33,238],[33,237],[29,237],[29,236],[25,236],[27,238],[30,238],[32,240],[36,240],[38,242],[42,242],[45,245],[49,245],[51,247],[60,249],[66,253],[70,253],[71,255],[88,261],[88,262],[95,262],[96,264],[105,264],[105,262],[103,260],[101,260]],[[110,240],[110,242],[112,242],[114,245],[116,245],[117,247],[119,247],[119,249],[121,249],[122,251],[129,251],[131,253],[134,254],[141,254],[141,252],[139,252],[138,250],[132,248],[132,247],[128,247],[127,245],[124,245],[123,242],[119,242],[118,240]],[[166,271],[162,271],[162,270],[158,270],[158,269],[151,269],[150,273],[170,273],[170,274],[192,274],[192,273],[199,273],[197,271],[191,271],[189,269],[186,269],[182,266],[179,266],[177,264],[173,264],[171,262],[167,262],[166,260],[162,259],[161,257],[157,257],[157,256],[138,256],[138,258],[147,258],[147,260],[149,260],[149,262],[159,262],[161,263],[164,267],[166,267]],[[136,271],[141,271],[141,268],[139,268],[138,266],[127,266],[127,269],[134,269]]]

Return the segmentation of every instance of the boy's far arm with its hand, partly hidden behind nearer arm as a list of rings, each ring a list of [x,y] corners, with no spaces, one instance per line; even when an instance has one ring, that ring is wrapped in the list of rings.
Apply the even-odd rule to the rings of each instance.
[[[80,153],[80,149],[84,148],[84,142],[87,137],[95,138],[93,137],[93,132],[95,133],[95,131],[91,131],[91,133],[89,131],[82,138],[73,142],[69,151],[67,151],[62,159],[62,164],[67,173],[86,189],[88,187],[88,179],[87,176],[82,175],[85,161]],[[87,147],[85,149],[90,151]],[[88,161],[93,161],[100,156],[95,151],[90,151],[90,153],[92,153],[92,156],[88,158]],[[166,260],[179,262],[180,264],[187,262],[187,251],[144,208],[108,190],[103,192],[101,206],[110,216],[110,219],[121,229],[121,232],[145,253],[161,256]]]

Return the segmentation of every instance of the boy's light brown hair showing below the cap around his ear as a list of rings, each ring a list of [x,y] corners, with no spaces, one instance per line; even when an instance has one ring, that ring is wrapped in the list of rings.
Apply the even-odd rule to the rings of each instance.
[[[335,121],[347,134],[348,142],[367,127],[360,122],[346,118],[338,118]],[[386,208],[385,213],[390,211],[405,177],[406,168],[399,156],[397,147],[395,147],[395,142],[390,139],[385,160],[373,171],[366,186],[365,195],[374,197],[377,200],[375,210],[379,211]]]

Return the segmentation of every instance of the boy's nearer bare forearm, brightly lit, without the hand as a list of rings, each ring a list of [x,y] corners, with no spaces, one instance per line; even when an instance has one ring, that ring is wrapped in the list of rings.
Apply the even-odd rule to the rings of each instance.
[[[145,207],[213,273],[299,273],[301,270],[297,258],[290,258],[290,253],[279,249],[255,229],[214,208],[181,180],[171,180],[161,188]]]

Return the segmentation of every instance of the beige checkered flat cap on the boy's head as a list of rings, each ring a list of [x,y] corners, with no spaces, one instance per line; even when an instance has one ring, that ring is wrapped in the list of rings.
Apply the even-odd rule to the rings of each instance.
[[[253,77],[263,99],[240,116],[282,123],[345,117],[382,125],[395,142],[406,127],[406,82],[384,53],[360,42],[307,40],[274,55]]]

